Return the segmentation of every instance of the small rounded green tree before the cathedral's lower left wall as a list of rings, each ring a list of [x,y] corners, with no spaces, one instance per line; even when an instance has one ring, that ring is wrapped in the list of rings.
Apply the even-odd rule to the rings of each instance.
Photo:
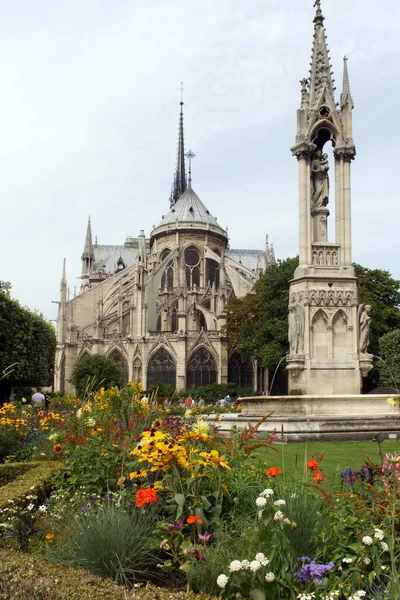
[[[101,387],[121,387],[123,384],[122,369],[105,356],[91,354],[82,358],[75,365],[71,383],[75,386],[77,395],[81,397],[85,394],[88,384],[91,392],[97,391]]]

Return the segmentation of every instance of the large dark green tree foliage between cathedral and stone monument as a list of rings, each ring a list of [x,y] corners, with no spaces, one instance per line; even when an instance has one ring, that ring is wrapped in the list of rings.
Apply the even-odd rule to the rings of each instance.
[[[226,332],[232,347],[269,369],[277,366],[289,347],[289,281],[298,264],[297,257],[278,261],[266,269],[254,293],[232,298],[227,305]]]

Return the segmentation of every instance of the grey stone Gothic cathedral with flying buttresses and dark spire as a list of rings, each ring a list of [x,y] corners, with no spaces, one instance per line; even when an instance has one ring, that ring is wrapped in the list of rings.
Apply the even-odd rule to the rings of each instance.
[[[230,350],[224,327],[228,300],[252,291],[275,264],[274,249],[268,237],[263,250],[230,247],[227,229],[192,187],[193,156],[185,153],[181,101],[169,212],[150,238],[142,230],[121,246],[93,243],[89,218],[80,293],[72,299],[64,261],[55,390],[73,391],[73,368],[88,354],[115,361],[126,382],[144,389],[233,382],[265,390],[265,370]]]

